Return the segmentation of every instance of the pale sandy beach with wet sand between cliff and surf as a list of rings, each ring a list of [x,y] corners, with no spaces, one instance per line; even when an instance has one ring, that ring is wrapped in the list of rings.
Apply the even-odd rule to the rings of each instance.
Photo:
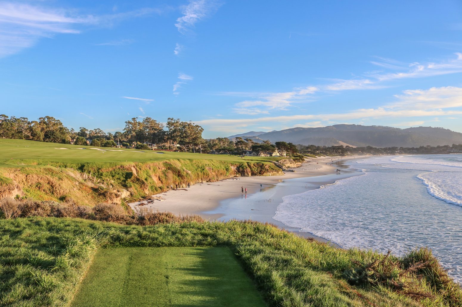
[[[178,215],[198,214],[208,220],[252,219],[275,224],[299,236],[328,242],[322,237],[301,232],[299,228],[273,219],[276,208],[282,203],[284,196],[319,189],[322,185],[361,175],[361,172],[349,169],[344,163],[367,157],[370,156],[313,158],[305,160],[297,168],[284,171],[284,175],[232,177],[211,183],[196,183],[187,189],[169,190],[129,205],[135,211],[137,208],[147,208]],[[336,169],[342,170],[340,174],[336,173]],[[241,187],[247,188],[247,193],[242,193]],[[330,244],[340,247],[332,242]]]

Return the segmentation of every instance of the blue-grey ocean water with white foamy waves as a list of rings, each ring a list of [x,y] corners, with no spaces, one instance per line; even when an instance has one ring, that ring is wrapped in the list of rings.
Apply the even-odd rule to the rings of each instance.
[[[351,161],[363,175],[283,197],[274,219],[344,248],[432,248],[462,282],[462,154]]]

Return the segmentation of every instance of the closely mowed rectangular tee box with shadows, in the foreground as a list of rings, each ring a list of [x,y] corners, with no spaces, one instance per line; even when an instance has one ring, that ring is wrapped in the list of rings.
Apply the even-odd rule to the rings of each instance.
[[[100,249],[72,307],[267,306],[231,250]]]

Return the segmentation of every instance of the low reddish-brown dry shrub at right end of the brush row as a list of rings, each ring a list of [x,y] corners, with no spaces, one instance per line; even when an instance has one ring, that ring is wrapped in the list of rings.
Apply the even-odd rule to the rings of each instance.
[[[136,222],[139,225],[155,225],[182,222],[203,223],[204,219],[196,214],[175,215],[171,212],[153,212],[147,208],[136,208]]]

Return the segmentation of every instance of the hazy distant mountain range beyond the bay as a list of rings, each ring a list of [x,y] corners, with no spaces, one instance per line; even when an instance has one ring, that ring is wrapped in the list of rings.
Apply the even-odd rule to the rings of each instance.
[[[269,140],[285,141],[302,145],[332,146],[350,145],[353,147],[419,147],[438,146],[462,143],[462,133],[444,128],[415,127],[393,128],[383,126],[363,126],[355,124],[339,124],[320,128],[292,128],[271,132],[249,131],[235,136],[250,138],[254,142]]]

